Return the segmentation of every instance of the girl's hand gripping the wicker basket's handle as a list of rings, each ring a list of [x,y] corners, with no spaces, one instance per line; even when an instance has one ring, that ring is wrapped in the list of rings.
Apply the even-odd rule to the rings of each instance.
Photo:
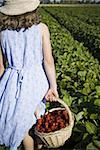
[[[45,98],[47,101],[57,101],[57,98],[59,98],[57,90],[50,88],[46,93]]]

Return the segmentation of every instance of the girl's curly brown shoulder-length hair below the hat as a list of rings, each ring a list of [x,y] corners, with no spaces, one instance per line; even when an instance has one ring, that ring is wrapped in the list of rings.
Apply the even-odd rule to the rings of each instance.
[[[39,24],[41,22],[41,15],[39,13],[39,6],[31,11],[22,15],[5,15],[0,14],[0,31],[3,30],[17,30],[25,28],[25,30],[31,27],[33,24]]]

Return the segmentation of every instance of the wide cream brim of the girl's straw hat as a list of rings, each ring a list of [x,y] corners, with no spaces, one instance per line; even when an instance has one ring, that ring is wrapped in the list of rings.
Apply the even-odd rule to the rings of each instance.
[[[37,0],[32,3],[20,4],[19,6],[14,5],[5,5],[0,7],[0,12],[5,15],[21,15],[27,12],[35,10],[40,4],[40,1]]]

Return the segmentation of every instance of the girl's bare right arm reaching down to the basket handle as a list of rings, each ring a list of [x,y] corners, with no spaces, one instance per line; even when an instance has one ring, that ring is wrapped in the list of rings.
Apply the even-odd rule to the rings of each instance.
[[[44,68],[45,68],[47,77],[50,82],[50,91],[49,91],[48,96],[50,97],[50,95],[54,94],[56,97],[58,97],[54,58],[52,55],[52,48],[51,48],[51,42],[50,42],[50,32],[46,24],[43,24],[42,29],[43,29],[42,31],[43,32],[42,33],[43,45],[42,46],[43,46],[43,55],[44,55]],[[51,99],[53,99],[52,96],[51,96]]]

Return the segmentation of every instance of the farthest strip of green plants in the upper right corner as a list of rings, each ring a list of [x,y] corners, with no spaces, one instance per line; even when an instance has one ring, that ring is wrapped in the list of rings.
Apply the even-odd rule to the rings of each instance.
[[[60,9],[60,6],[57,7]],[[63,11],[77,19],[93,26],[100,26],[100,6],[63,7]]]

